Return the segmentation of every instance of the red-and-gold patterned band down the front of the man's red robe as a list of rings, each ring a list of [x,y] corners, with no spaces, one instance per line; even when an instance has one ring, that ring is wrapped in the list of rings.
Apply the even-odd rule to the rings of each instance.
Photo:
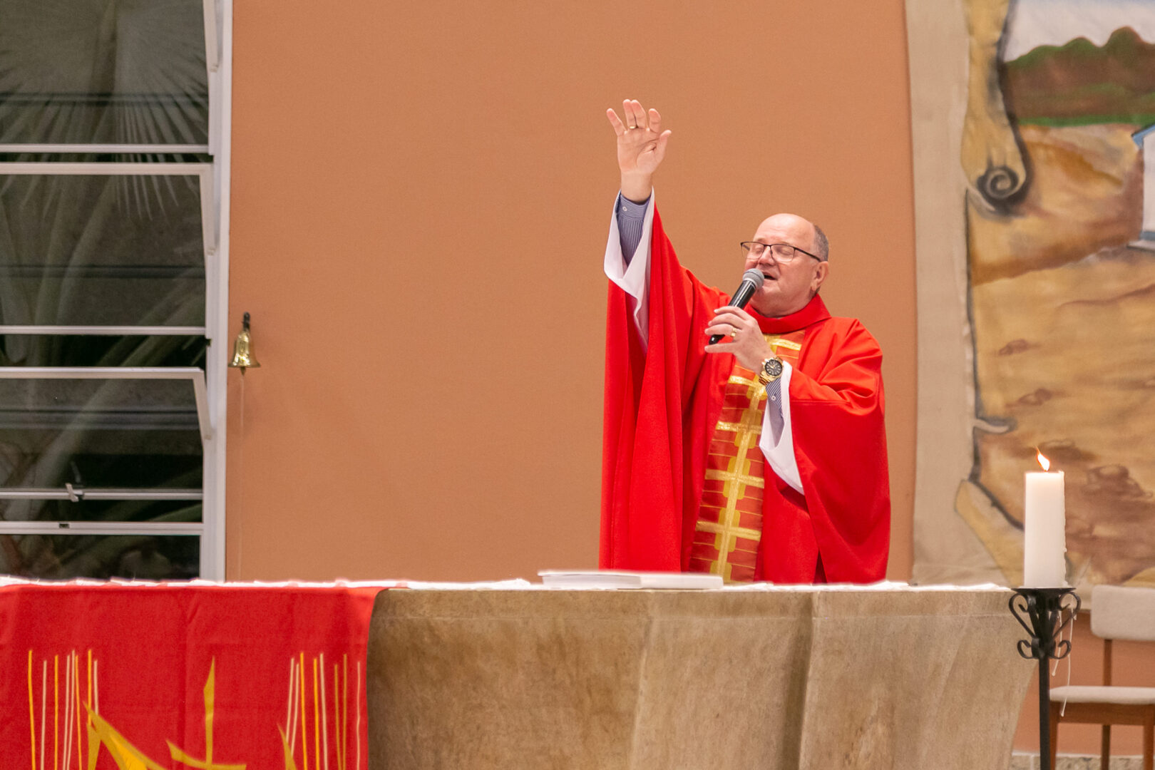
[[[796,365],[805,331],[763,335],[783,361]],[[766,388],[735,360],[722,399],[722,413],[709,455],[698,507],[690,571],[721,575],[728,583],[750,583],[762,538],[762,408]]]

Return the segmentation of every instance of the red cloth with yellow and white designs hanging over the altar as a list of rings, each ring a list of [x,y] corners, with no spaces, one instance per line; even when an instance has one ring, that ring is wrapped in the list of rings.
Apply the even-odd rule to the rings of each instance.
[[[382,588],[0,583],[0,767],[365,770]]]

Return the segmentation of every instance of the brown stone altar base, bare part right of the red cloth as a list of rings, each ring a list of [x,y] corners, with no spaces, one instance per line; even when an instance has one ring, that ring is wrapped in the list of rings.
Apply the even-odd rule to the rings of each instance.
[[[1005,770],[1005,589],[390,590],[371,770]]]

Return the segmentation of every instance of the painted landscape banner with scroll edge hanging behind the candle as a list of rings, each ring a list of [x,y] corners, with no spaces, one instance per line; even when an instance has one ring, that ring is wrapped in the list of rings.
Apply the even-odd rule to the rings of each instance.
[[[1155,3],[918,5],[915,578],[1021,582],[1041,451],[1067,581],[1155,585]]]

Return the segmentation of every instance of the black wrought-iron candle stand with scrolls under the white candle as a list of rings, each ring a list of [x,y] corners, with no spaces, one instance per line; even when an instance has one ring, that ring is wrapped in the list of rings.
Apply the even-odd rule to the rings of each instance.
[[[1074,601],[1068,601],[1074,599]],[[1060,640],[1082,601],[1074,589],[1014,589],[1011,614],[1030,634],[1019,640],[1019,655],[1038,660],[1038,767],[1051,768],[1051,672],[1049,661],[1071,655],[1071,640]]]

